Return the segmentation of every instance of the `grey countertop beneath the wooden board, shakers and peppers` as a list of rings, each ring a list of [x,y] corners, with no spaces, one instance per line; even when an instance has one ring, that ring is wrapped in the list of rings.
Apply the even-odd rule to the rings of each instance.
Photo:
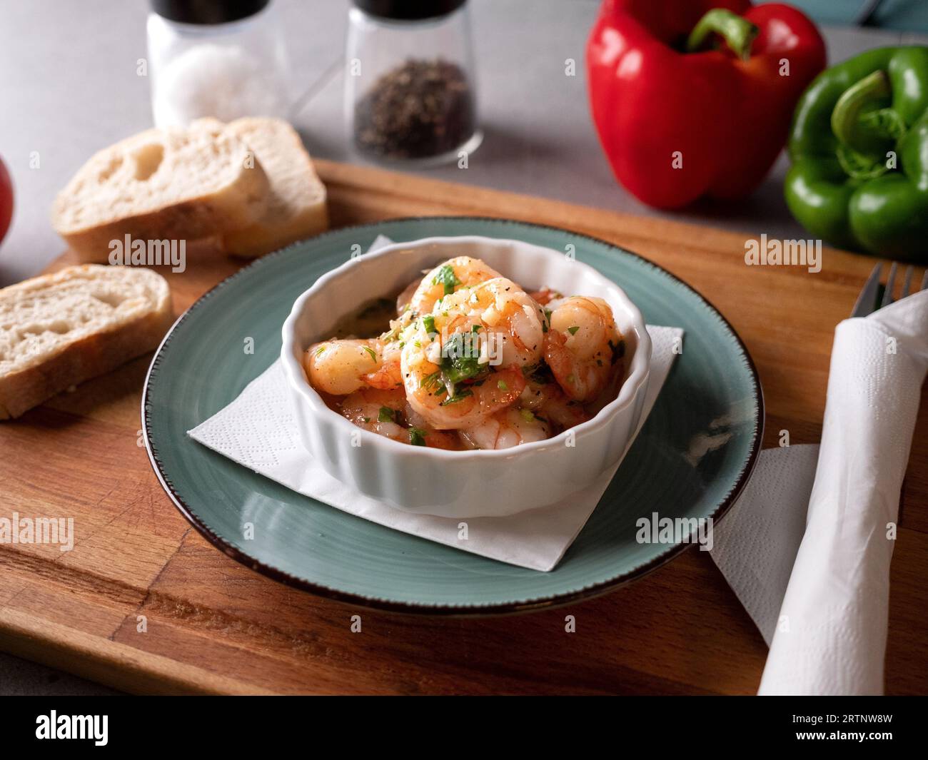
[[[310,94],[293,121],[311,153],[348,160],[340,65],[347,2],[277,2],[295,89]],[[452,165],[419,174],[768,236],[804,237],[782,200],[782,158],[752,198],[724,206],[702,203],[680,213],[653,211],[615,183],[586,102],[584,45],[599,2],[471,0],[471,6],[483,145],[467,169]],[[48,213],[71,174],[99,148],[151,125],[148,80],[136,75],[138,59],[147,55],[147,12],[145,0],[3,0],[0,155],[13,175],[15,211],[0,245],[0,285],[38,273],[63,250]],[[826,37],[831,61],[905,39],[899,32],[846,28],[826,29]],[[567,58],[577,62],[574,77],[565,76]],[[0,655],[0,693],[112,692]]]

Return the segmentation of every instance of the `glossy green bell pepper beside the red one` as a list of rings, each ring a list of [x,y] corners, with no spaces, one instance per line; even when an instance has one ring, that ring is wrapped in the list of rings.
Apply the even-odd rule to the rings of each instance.
[[[823,71],[793,114],[786,202],[818,238],[928,263],[928,46]]]

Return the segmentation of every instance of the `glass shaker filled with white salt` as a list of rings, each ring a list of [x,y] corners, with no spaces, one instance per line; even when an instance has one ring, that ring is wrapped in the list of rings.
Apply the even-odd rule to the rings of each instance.
[[[286,118],[288,62],[271,0],[151,0],[148,76],[155,126],[213,116]]]

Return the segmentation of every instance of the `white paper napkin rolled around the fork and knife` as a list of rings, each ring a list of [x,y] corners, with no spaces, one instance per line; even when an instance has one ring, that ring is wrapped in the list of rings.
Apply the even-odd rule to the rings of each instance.
[[[926,369],[928,291],[842,322],[818,457],[764,452],[715,529],[713,559],[772,640],[760,694],[883,692],[891,536]]]

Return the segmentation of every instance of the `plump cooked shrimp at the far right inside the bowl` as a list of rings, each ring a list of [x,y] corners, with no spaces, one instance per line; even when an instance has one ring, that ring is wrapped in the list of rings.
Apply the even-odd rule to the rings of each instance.
[[[551,312],[545,359],[564,393],[589,401],[615,377],[624,345],[608,303],[571,296]]]

